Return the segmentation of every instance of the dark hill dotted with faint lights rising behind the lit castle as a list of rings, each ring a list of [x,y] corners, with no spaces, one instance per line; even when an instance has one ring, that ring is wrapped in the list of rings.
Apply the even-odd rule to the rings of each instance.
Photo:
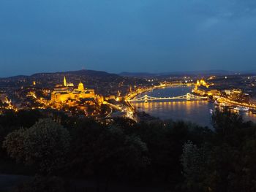
[[[0,88],[5,91],[23,88],[26,90],[26,88],[31,88],[34,82],[36,82],[36,88],[54,88],[56,85],[63,85],[64,76],[67,82],[72,82],[75,87],[78,86],[79,82],[83,82],[85,88],[93,88],[97,94],[102,96],[116,96],[117,93],[125,95],[131,85],[146,85],[149,83],[142,78],[124,77],[93,70],[80,70],[0,78]]]

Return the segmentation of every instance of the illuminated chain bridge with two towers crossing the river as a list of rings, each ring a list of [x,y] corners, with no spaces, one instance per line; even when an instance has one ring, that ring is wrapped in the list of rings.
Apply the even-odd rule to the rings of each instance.
[[[162,100],[176,100],[176,99],[186,99],[186,100],[201,100],[201,99],[208,99],[207,96],[195,96],[191,93],[187,93],[186,95],[183,96],[173,96],[173,97],[154,97],[154,96],[141,96],[136,99],[131,99],[129,101],[162,101]]]

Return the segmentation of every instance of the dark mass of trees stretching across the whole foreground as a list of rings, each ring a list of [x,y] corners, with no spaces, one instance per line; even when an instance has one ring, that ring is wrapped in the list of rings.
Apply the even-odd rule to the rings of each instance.
[[[106,125],[49,114],[0,115],[0,154],[50,176],[157,183],[171,191],[256,191],[256,126],[228,110],[214,112],[213,130],[183,121],[114,118]],[[59,179],[39,180],[62,188]]]

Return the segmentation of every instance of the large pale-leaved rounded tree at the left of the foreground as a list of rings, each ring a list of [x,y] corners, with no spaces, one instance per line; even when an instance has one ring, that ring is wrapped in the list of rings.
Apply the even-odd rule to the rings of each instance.
[[[16,161],[51,173],[61,168],[69,150],[69,132],[50,119],[40,119],[31,128],[8,134],[3,147]]]

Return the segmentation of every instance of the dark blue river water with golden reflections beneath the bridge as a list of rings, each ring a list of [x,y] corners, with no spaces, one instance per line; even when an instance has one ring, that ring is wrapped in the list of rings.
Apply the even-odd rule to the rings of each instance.
[[[143,93],[140,96],[147,94],[148,96],[169,97],[181,96],[186,93],[191,93],[192,87],[178,87],[178,88],[163,88],[152,92]],[[138,97],[140,97],[138,96]],[[148,101],[148,103],[140,102],[133,103],[139,111],[145,111],[148,114],[165,119],[186,120],[192,123],[197,123],[200,126],[211,127],[211,113],[214,109],[214,104],[208,101]],[[244,119],[256,122],[256,115],[250,112],[242,114]]]

